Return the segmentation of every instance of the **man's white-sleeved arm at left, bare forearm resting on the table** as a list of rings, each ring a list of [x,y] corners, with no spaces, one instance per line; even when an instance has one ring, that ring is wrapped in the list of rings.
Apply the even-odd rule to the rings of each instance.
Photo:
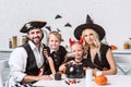
[[[13,50],[13,52],[10,55],[9,59],[9,65],[10,65],[10,74],[11,77],[13,77],[14,82],[35,82],[39,79],[51,79],[49,76],[33,76],[33,75],[26,75],[25,69],[26,69],[26,51],[24,48],[16,48]]]

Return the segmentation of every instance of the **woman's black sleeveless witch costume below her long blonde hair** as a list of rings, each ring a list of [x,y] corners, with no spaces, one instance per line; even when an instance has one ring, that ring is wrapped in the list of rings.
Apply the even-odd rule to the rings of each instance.
[[[98,53],[96,53],[94,62],[92,62],[92,60],[91,60],[91,53],[88,50],[87,51],[87,59],[86,59],[86,66],[90,66],[92,69],[98,69],[100,71],[109,70],[110,66],[109,66],[109,63],[108,63],[107,58],[106,58],[106,53],[107,53],[108,49],[110,49],[109,46],[102,44],[102,47],[99,50],[102,60],[99,60],[99,55],[98,55]]]

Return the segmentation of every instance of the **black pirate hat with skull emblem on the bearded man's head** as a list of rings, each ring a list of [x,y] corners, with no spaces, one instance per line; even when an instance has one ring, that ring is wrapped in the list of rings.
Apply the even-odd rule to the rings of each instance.
[[[26,24],[31,24],[33,27],[31,28],[27,28],[26,27]],[[41,21],[32,21],[32,22],[28,22],[26,23],[22,28],[21,28],[21,33],[27,33],[29,32],[31,29],[35,29],[35,28],[43,28],[47,23],[46,22],[41,22]]]

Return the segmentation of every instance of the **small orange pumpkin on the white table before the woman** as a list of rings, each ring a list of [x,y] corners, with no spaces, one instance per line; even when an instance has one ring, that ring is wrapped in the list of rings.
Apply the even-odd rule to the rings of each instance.
[[[95,77],[95,83],[97,85],[106,85],[107,84],[107,77],[105,75],[98,75]]]

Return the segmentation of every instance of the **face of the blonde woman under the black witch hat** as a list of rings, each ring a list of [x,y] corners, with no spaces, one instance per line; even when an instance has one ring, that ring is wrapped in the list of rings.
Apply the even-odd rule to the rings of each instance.
[[[88,45],[94,44],[94,40],[96,39],[95,32],[93,29],[83,30],[82,36]]]

